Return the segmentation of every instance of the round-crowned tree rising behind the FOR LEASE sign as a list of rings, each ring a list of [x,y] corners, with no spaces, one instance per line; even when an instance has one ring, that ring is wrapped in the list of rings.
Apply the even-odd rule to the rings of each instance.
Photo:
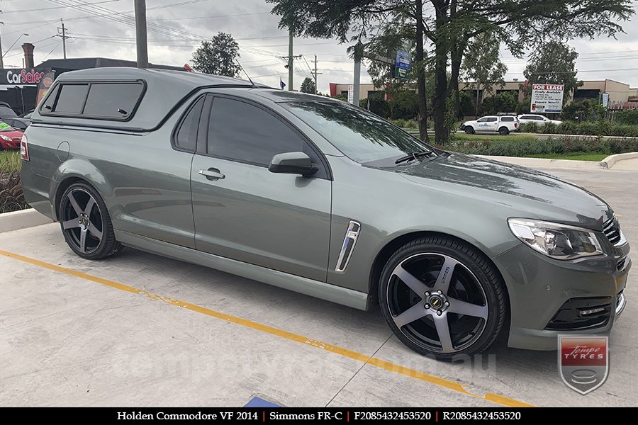
[[[549,41],[532,52],[523,71],[530,81],[527,94],[532,94],[532,84],[565,84],[563,102],[569,100],[573,91],[583,85],[576,78],[578,52],[564,42]]]

